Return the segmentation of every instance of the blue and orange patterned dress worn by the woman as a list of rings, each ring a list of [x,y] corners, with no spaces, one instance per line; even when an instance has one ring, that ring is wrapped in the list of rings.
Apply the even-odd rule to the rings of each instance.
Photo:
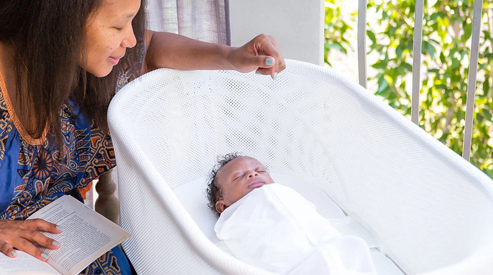
[[[142,65],[144,46],[138,47]],[[122,72],[116,83],[117,91],[138,73],[128,69]],[[75,116],[78,111],[71,101],[62,106],[65,150],[50,144],[45,135],[33,139],[16,117],[0,74],[0,219],[24,220],[66,194],[83,201],[78,189],[115,166],[109,133],[97,128],[94,121],[83,114]],[[128,275],[131,270],[117,246],[81,274]]]

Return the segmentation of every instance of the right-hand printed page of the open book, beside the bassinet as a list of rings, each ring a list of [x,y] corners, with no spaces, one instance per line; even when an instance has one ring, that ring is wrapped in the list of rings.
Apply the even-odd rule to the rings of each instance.
[[[63,275],[78,274],[105,252],[130,235],[115,223],[71,196],[63,196],[29,219],[40,218],[63,228],[60,234],[43,232],[61,243],[59,249],[39,247],[49,256],[48,264]]]

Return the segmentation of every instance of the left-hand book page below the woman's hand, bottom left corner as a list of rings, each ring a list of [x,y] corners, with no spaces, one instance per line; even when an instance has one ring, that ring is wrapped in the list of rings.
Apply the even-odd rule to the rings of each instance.
[[[0,275],[61,275],[49,264],[24,251],[15,252],[15,258],[9,258],[0,252]]]

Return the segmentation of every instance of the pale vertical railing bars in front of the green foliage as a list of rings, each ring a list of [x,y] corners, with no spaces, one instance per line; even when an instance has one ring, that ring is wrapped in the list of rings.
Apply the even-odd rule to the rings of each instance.
[[[420,90],[421,90],[421,45],[423,33],[423,4],[424,0],[416,0],[414,13],[414,41],[412,57],[412,95],[411,121],[419,123]],[[366,11],[367,0],[358,0],[358,72],[359,84],[367,87],[366,81]],[[472,17],[471,53],[469,58],[469,76],[467,81],[466,119],[464,127],[464,145],[462,157],[469,160],[472,141],[472,118],[474,116],[474,99],[476,95],[476,75],[478,73],[479,35],[483,0],[474,1]]]

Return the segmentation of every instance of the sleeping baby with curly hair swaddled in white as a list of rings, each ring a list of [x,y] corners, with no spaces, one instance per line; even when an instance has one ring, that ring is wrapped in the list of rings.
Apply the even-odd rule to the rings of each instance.
[[[343,236],[315,205],[274,183],[256,159],[228,154],[206,191],[217,237],[251,265],[287,275],[376,275],[366,242]]]

